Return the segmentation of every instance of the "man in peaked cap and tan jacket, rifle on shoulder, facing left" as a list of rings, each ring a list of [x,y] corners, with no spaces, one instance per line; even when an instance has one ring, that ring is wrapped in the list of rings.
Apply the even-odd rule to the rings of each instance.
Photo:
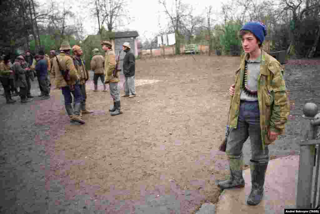
[[[101,42],[102,50],[106,52],[104,60],[104,83],[109,83],[110,95],[113,98],[113,108],[110,109],[110,115],[120,115],[122,111],[120,110],[120,94],[118,91],[118,82],[119,82],[119,72],[114,74],[116,68],[116,55],[112,50],[112,44],[108,41]]]

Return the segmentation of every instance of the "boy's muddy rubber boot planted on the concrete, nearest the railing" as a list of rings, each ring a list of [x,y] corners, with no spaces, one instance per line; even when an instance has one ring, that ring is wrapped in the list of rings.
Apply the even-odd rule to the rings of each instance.
[[[264,178],[266,177],[267,163],[252,162],[250,165],[251,173],[251,192],[247,200],[249,205],[257,205],[263,196]]]

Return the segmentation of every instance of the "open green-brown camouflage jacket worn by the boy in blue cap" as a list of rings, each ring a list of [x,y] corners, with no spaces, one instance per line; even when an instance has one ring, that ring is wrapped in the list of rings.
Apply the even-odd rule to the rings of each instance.
[[[243,86],[245,59],[241,58],[240,67],[236,71],[235,93],[231,97],[229,127],[236,129],[240,94]],[[260,128],[263,148],[270,144],[268,130],[284,133],[284,125],[290,112],[290,105],[283,78],[284,69],[281,64],[266,52],[261,51],[260,75],[258,77],[258,102],[260,109]]]

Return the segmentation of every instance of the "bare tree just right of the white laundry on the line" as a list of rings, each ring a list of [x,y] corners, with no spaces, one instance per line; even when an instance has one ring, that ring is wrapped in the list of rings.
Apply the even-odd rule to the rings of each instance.
[[[168,16],[171,27],[174,29],[176,39],[175,54],[180,54],[180,34],[184,26],[183,20],[190,15],[192,9],[188,4],[183,4],[181,0],[174,0],[174,8],[170,12],[165,0],[159,0],[158,2],[163,5],[164,13]]]

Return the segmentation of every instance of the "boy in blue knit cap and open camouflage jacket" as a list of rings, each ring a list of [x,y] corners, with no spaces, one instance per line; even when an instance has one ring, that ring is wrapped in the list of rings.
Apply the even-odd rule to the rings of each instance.
[[[230,162],[230,179],[220,181],[221,189],[244,187],[242,147],[250,137],[252,188],[247,204],[259,204],[269,161],[268,145],[284,133],[290,107],[283,78],[283,67],[261,50],[267,28],[261,22],[248,22],[239,36],[244,55],[236,71],[231,96],[226,154]]]

